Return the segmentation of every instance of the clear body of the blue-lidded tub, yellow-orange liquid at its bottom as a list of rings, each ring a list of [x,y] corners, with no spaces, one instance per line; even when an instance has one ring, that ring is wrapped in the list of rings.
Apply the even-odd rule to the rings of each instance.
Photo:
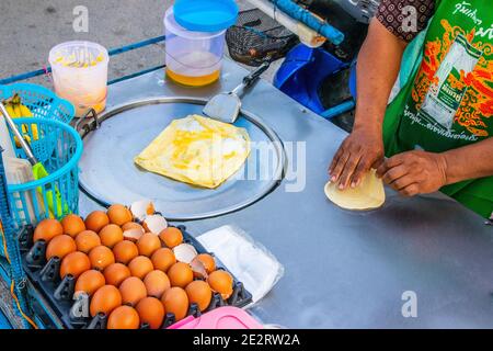
[[[164,14],[167,76],[188,87],[209,84],[220,76],[225,31],[194,32],[176,23],[173,8]]]

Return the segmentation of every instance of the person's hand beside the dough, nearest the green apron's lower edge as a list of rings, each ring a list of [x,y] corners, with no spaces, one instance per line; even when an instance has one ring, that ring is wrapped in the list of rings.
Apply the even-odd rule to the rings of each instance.
[[[447,161],[442,154],[406,151],[383,161],[377,176],[404,196],[433,193],[447,184]]]

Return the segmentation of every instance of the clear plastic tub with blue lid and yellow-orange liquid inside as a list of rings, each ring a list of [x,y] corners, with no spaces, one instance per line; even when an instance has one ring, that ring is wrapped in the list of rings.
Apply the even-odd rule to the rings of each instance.
[[[232,0],[177,0],[164,14],[167,76],[190,87],[216,81],[237,16]]]

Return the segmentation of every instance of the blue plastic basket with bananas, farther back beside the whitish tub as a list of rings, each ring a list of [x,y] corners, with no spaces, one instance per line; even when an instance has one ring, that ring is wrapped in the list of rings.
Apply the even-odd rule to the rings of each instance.
[[[48,118],[69,123],[76,115],[73,105],[58,98],[51,90],[32,83],[14,83],[0,86],[0,100],[5,100],[19,94],[34,117]]]

